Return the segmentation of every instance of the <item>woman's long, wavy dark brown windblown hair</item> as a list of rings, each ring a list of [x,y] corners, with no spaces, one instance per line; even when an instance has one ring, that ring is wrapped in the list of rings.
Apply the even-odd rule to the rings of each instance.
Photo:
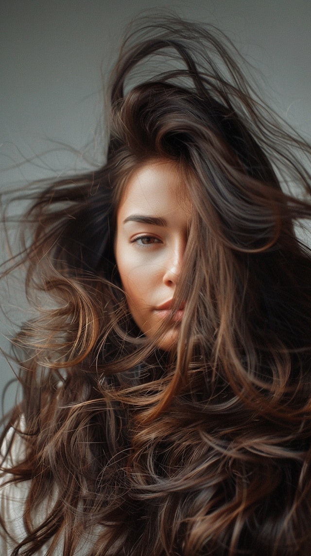
[[[311,256],[294,225],[310,218],[311,148],[233,50],[213,27],[140,21],[109,86],[103,166],[27,213],[16,265],[50,308],[13,341],[24,397],[6,431],[25,454],[9,471],[31,481],[14,556],[73,556],[88,536],[88,556],[309,551]],[[113,254],[124,187],[153,160],[177,165],[193,205],[169,354],[134,324]]]

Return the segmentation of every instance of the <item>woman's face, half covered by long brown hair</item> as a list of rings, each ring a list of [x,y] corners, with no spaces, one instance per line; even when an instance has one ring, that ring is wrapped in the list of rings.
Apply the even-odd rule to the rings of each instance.
[[[191,209],[190,201],[180,198],[180,185],[173,162],[148,162],[129,179],[117,212],[119,275],[133,319],[149,337],[170,315],[187,244]],[[177,340],[182,316],[180,307],[161,349]]]

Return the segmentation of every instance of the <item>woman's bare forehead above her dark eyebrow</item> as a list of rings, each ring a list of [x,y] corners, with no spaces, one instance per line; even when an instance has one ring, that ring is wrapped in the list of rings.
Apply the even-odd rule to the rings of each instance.
[[[132,172],[117,213],[143,212],[165,216],[172,211],[190,213],[187,186],[176,163],[151,161]]]

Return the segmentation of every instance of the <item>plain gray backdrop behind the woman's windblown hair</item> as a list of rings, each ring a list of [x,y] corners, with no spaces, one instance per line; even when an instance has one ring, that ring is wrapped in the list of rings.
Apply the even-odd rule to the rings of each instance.
[[[100,158],[101,69],[111,66],[124,26],[151,8],[220,27],[258,68],[265,100],[310,137],[310,0],[1,0],[1,187]],[[9,291],[14,318],[22,319],[12,282]],[[2,315],[0,330],[6,348],[12,327]],[[0,359],[1,390],[12,376]],[[11,386],[6,409],[13,399]]]

